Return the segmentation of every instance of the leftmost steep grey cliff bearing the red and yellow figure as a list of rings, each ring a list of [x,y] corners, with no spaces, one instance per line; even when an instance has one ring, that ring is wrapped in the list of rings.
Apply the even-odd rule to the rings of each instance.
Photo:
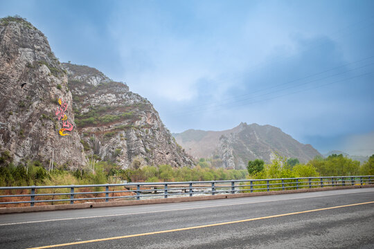
[[[66,84],[66,73],[43,33],[21,18],[0,19],[0,122],[5,123],[0,151],[10,151],[16,164],[40,160],[48,165],[54,151],[59,164],[84,165]],[[66,103],[63,108],[59,98]],[[58,119],[58,109],[66,118]],[[64,122],[66,129],[73,128],[63,132],[68,136],[59,134]]]

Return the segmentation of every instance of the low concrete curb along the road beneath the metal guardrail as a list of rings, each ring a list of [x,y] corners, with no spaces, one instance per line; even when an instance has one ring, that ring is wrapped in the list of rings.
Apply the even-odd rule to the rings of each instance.
[[[128,205],[148,205],[148,204],[157,204],[157,203],[180,203],[180,202],[187,202],[187,201],[232,199],[232,198],[250,197],[250,196],[294,194],[294,193],[319,192],[319,191],[327,191],[327,190],[345,190],[345,189],[366,188],[366,187],[374,187],[374,184],[359,185],[359,186],[357,185],[340,186],[340,187],[316,187],[316,188],[301,189],[301,190],[254,192],[254,193],[242,193],[242,194],[218,194],[214,196],[192,196],[192,197],[177,197],[177,198],[167,198],[167,199],[139,200],[139,201],[109,201],[109,202],[97,202],[97,203],[87,202],[87,203],[64,204],[64,205],[42,205],[42,206],[34,206],[34,207],[0,208],[0,214],[55,211],[55,210],[74,210],[74,209],[83,209],[83,208],[106,208],[106,207],[118,207],[118,206],[128,206]]]

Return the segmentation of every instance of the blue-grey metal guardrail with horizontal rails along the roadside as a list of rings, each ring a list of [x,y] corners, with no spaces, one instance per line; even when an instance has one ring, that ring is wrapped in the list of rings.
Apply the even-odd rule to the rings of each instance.
[[[241,192],[261,192],[271,190],[299,190],[301,188],[313,187],[336,187],[346,185],[367,185],[373,184],[374,176],[323,176],[323,177],[303,177],[303,178],[274,178],[274,179],[246,179],[232,181],[189,181],[189,182],[166,182],[166,183],[120,183],[120,184],[100,184],[100,185],[59,185],[59,186],[21,186],[21,187],[0,187],[0,194],[5,190],[14,192],[17,190],[29,190],[30,194],[3,194],[0,201],[5,198],[19,197],[29,201],[3,201],[0,205],[30,203],[54,203],[54,202],[74,202],[89,200],[112,199],[136,199],[142,197],[163,197],[176,195],[193,196],[194,194],[237,194]],[[174,187],[172,187],[174,186]],[[113,190],[109,190],[112,187]],[[124,190],[115,190],[121,187]],[[92,192],[75,192],[80,188],[94,188]],[[103,189],[105,188],[105,191]],[[57,190],[70,190],[70,192],[56,192]],[[53,193],[48,193],[53,190]],[[153,194],[152,194],[153,192]],[[115,193],[125,193],[130,195],[114,196]],[[105,194],[105,196],[104,196]],[[112,194],[112,196],[110,196]],[[96,197],[87,197],[94,195]],[[44,199],[41,197],[44,196]],[[61,196],[62,199],[55,199]],[[76,196],[81,196],[76,198]],[[85,197],[86,196],[86,197]],[[48,199],[52,197],[52,199]]]

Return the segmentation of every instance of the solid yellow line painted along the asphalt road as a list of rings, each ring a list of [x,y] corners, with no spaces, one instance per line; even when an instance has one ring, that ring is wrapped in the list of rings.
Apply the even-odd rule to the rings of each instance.
[[[335,206],[335,207],[330,207],[330,208],[319,208],[319,209],[315,209],[315,210],[306,210],[306,211],[301,211],[301,212],[291,212],[291,213],[287,213],[287,214],[276,214],[276,215],[271,215],[271,216],[263,216],[263,217],[258,217],[258,218],[244,219],[244,220],[240,220],[240,221],[228,221],[228,222],[214,223],[214,224],[208,224],[208,225],[197,225],[197,226],[189,227],[189,228],[177,228],[177,229],[171,229],[171,230],[163,230],[163,231],[157,231],[157,232],[145,232],[145,233],[141,233],[141,234],[130,234],[130,235],[110,237],[110,238],[104,238],[104,239],[91,239],[91,240],[88,240],[88,241],[62,243],[62,244],[51,245],[51,246],[39,246],[39,247],[28,248],[28,249],[56,248],[56,247],[61,247],[61,246],[79,245],[79,244],[82,244],[82,243],[94,243],[94,242],[109,241],[109,240],[114,240],[114,239],[126,239],[126,238],[141,237],[141,236],[153,235],[153,234],[163,234],[163,233],[167,233],[167,232],[179,232],[179,231],[193,230],[193,229],[198,229],[198,228],[209,228],[209,227],[218,226],[218,225],[229,225],[229,224],[242,223],[242,222],[248,222],[248,221],[258,221],[258,220],[261,220],[261,219],[270,219],[270,218],[289,216],[289,215],[294,215],[294,214],[305,214],[305,213],[308,213],[308,212],[318,212],[318,211],[323,211],[323,210],[332,210],[332,209],[336,209],[336,208],[353,207],[353,206],[356,206],[356,205],[365,205],[365,204],[371,204],[371,203],[374,203],[374,201],[368,201],[366,203],[355,203],[355,204],[349,204],[349,205],[340,205],[340,206]]]

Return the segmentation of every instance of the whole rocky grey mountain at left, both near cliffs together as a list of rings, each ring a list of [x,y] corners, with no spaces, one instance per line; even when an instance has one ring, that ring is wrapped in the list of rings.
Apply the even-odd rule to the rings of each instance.
[[[89,66],[60,64],[26,19],[0,21],[0,153],[17,165],[193,165],[152,104]],[[7,160],[8,160],[7,159]],[[0,164],[1,164],[0,160]]]

